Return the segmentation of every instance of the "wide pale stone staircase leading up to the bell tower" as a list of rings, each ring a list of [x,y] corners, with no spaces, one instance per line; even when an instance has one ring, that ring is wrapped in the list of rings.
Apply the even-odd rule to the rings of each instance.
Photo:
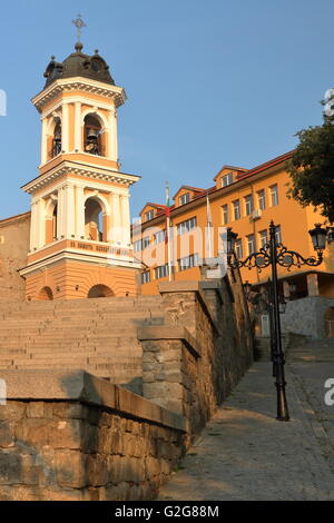
[[[160,296],[0,302],[0,371],[80,368],[140,394],[137,328],[161,324]]]

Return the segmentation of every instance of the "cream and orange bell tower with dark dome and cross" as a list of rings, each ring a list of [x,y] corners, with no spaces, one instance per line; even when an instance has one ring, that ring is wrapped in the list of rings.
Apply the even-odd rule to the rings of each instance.
[[[32,99],[41,119],[39,176],[22,187],[31,195],[30,250],[20,270],[27,299],[135,295],[140,266],[129,188],[139,177],[121,172],[117,140],[125,90],[79,39],[62,62],[51,57],[45,77]]]

